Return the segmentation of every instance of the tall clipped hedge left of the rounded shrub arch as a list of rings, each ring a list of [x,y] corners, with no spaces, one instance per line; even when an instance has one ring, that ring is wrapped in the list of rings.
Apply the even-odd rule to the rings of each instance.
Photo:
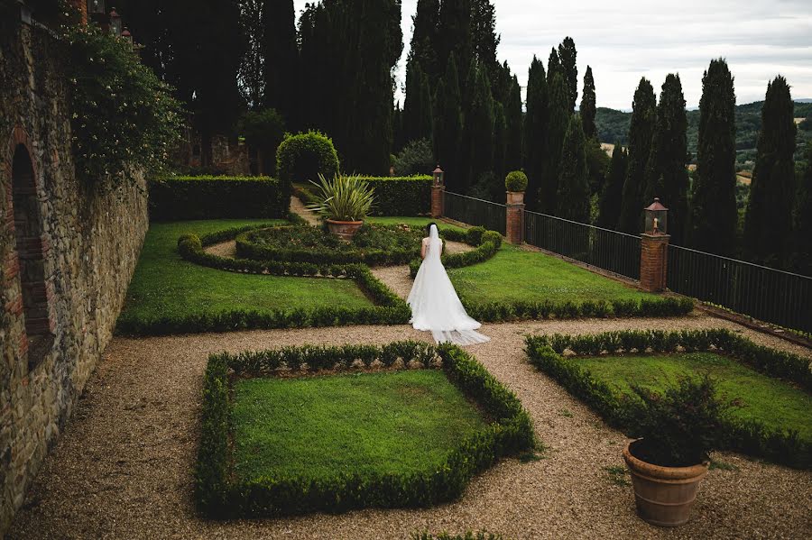
[[[279,180],[270,177],[168,177],[147,187],[152,221],[283,217],[290,205]]]

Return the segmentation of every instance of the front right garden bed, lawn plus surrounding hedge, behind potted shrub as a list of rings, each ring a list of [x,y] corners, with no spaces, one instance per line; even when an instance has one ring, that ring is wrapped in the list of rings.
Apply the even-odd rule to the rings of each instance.
[[[722,418],[719,448],[812,468],[807,359],[727,330],[529,336],[526,351],[533,365],[630,434],[641,406],[630,384],[657,391],[678,374],[708,372],[724,398],[742,406]]]

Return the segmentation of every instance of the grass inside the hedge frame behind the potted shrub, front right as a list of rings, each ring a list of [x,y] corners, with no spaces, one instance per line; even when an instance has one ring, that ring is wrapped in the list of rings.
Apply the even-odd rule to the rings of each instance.
[[[675,383],[680,374],[707,372],[717,381],[724,398],[741,400],[743,407],[734,409],[735,417],[756,420],[771,428],[796,430],[801,439],[812,441],[812,396],[718,354],[607,356],[570,362],[577,362],[595,379],[627,394],[632,393],[631,383],[662,389],[667,383]]]

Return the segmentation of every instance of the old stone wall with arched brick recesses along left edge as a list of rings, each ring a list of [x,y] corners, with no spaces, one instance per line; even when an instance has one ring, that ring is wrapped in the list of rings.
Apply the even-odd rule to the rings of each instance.
[[[62,45],[0,22],[0,537],[110,341],[145,186],[76,178]]]

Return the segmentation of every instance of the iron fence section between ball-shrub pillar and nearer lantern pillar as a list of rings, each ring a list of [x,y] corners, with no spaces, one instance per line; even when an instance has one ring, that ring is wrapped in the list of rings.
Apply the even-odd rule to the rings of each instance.
[[[627,278],[640,279],[640,236],[525,211],[524,241]]]

